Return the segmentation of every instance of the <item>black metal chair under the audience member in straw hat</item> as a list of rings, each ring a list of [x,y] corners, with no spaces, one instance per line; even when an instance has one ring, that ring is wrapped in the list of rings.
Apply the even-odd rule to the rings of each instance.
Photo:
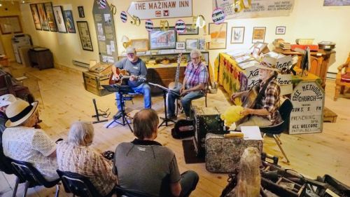
[[[59,181],[61,179],[56,179],[54,181],[47,181],[41,172],[39,172],[36,168],[31,165],[31,163],[25,161],[16,161],[12,160],[11,164],[13,168],[18,172],[18,174],[25,179],[25,192],[23,196],[27,196],[27,190],[29,187],[33,186],[45,186],[46,188],[50,188],[52,186],[56,186],[56,194],[55,197],[59,195]]]

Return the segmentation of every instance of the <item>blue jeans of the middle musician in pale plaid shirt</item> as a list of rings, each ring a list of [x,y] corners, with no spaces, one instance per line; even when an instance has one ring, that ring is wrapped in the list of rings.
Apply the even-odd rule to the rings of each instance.
[[[174,92],[180,94],[180,89],[175,88]],[[181,97],[181,104],[183,107],[183,111],[185,111],[186,116],[190,116],[191,112],[191,101],[195,99],[199,99],[200,97],[204,97],[204,93],[202,91],[197,90],[197,91],[192,91],[188,93],[187,95]],[[175,114],[175,100],[178,98],[178,96],[174,95],[173,93],[168,93],[168,100],[167,100],[167,116],[171,117],[174,116]]]

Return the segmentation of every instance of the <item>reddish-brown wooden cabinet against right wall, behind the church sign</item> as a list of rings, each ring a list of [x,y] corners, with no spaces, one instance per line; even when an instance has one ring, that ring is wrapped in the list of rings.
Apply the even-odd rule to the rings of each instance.
[[[282,53],[283,55],[298,55],[297,67],[300,67],[302,61],[302,54],[295,52],[293,50],[282,50],[281,48],[274,49],[276,53]],[[319,76],[322,79],[322,88],[325,88],[325,78],[328,72],[330,55],[335,53],[335,50],[323,50],[319,49],[318,51],[311,51],[311,69],[309,72]]]

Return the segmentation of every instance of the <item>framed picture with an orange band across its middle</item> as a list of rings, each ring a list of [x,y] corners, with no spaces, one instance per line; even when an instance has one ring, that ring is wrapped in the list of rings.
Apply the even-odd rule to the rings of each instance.
[[[223,22],[220,25],[216,25],[214,22],[209,22],[209,35],[211,36],[209,49],[225,49],[227,32],[227,22]]]

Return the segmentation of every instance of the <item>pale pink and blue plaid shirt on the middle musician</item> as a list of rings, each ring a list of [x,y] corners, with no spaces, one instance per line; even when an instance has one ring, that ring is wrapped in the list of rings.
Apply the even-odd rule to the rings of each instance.
[[[186,77],[186,89],[193,88],[195,86],[198,86],[200,83],[208,83],[208,69],[207,65],[205,65],[203,62],[200,62],[197,68],[193,65],[192,62],[188,62],[186,71],[185,71],[185,77]]]

